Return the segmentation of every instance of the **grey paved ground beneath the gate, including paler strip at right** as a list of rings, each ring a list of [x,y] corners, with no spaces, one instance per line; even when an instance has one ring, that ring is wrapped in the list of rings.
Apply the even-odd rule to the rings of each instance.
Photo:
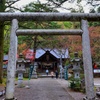
[[[30,88],[15,88],[17,100],[83,100],[85,94],[73,92],[69,82],[64,79],[38,78],[23,82]],[[94,79],[95,86],[100,84],[100,78]],[[0,100],[4,98],[0,97]]]

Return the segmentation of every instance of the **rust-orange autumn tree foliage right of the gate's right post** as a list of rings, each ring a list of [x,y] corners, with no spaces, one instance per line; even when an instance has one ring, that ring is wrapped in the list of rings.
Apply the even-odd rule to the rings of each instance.
[[[100,26],[89,28],[91,39],[91,52],[93,62],[99,62],[100,59]]]

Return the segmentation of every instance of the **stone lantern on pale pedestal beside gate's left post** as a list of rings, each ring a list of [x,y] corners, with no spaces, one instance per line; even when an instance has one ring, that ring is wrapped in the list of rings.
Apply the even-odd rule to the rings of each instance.
[[[18,73],[18,87],[23,86],[23,73],[25,72],[25,60],[23,55],[20,54],[17,60],[17,73]]]

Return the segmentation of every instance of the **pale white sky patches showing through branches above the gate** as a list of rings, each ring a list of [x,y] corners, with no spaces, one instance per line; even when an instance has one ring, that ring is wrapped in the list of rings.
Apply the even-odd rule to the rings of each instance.
[[[25,6],[25,5],[27,5],[27,4],[29,4],[30,2],[33,2],[33,1],[37,1],[37,0],[20,0],[20,1],[18,1],[14,6],[16,6],[16,7],[18,7],[18,8],[20,8],[20,7],[23,7],[23,6]],[[46,0],[40,0],[42,3],[45,3],[46,2]],[[91,8],[90,6],[85,6],[85,4],[86,4],[86,2],[85,2],[85,0],[83,0],[82,2],[81,2],[81,5],[84,7],[84,12],[85,13],[88,13],[89,12],[89,9]],[[69,8],[69,7],[73,7],[73,8],[75,8],[75,9],[78,9],[78,7],[76,6],[76,2],[74,2],[73,4],[71,3],[68,3],[68,2],[65,2],[64,4],[63,4],[63,7],[64,8]],[[61,8],[59,8],[58,9],[60,12],[70,12],[70,11],[68,11],[68,10],[66,10],[66,9],[61,9]]]

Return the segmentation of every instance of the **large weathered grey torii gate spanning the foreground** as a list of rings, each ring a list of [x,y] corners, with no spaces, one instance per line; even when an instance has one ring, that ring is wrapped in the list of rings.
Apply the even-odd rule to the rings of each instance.
[[[95,100],[92,59],[88,21],[100,21],[100,13],[0,13],[0,20],[12,21],[9,59],[7,68],[6,100],[14,100],[14,78],[16,71],[17,36],[18,35],[80,35],[82,37],[83,64],[87,100]],[[18,29],[18,21],[79,21],[79,30]]]

